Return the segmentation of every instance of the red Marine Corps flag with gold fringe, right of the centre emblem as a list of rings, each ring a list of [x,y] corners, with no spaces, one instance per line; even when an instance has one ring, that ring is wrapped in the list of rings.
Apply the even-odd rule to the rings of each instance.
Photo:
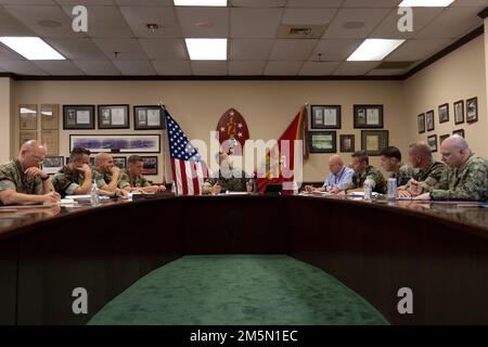
[[[295,156],[301,155],[308,158],[308,145],[306,145],[307,118],[307,105],[303,105],[296,117],[278,140],[278,143],[266,153],[265,160],[262,160],[261,166],[257,170],[257,188],[259,192],[264,192],[268,184],[280,183],[283,183],[285,193],[293,191],[296,178]],[[300,152],[296,147],[295,140],[303,141]],[[298,162],[301,164],[301,160]],[[301,167],[299,169],[301,170]],[[301,175],[299,179],[301,179]]]

